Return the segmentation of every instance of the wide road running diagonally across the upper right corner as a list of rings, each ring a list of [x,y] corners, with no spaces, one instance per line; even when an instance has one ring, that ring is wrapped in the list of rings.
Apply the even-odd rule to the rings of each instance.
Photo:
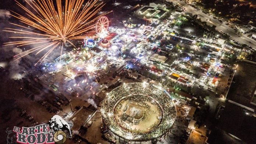
[[[211,18],[209,15],[196,10],[195,8],[191,7],[190,5],[187,5],[183,1],[179,1],[179,0],[168,0],[168,1],[173,2],[174,4],[179,3],[179,6],[181,7],[183,6],[182,8],[185,8],[186,12],[189,12],[193,15],[198,15],[198,18],[200,18],[202,21],[207,22],[207,24],[209,24],[210,26],[215,25],[216,30],[224,31],[225,33],[230,34],[231,38],[234,39],[235,41],[239,43],[245,43],[251,46],[254,50],[256,50],[256,41],[254,41],[253,39],[248,38],[245,35],[242,35],[241,37],[239,37],[235,33],[235,31],[232,28],[228,27],[226,24],[220,23],[217,19]],[[207,21],[207,19],[209,21]]]

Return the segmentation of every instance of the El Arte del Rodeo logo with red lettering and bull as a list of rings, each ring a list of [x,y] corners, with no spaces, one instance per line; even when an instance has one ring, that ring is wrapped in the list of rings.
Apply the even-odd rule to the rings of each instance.
[[[72,124],[54,115],[46,124],[19,128],[14,126],[16,142],[20,144],[63,144],[67,137],[71,138]]]

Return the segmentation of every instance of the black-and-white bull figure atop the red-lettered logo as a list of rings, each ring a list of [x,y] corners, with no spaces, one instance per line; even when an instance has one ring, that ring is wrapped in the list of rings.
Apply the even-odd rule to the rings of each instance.
[[[63,132],[67,131],[66,132],[67,136],[69,138],[72,137],[72,133],[71,133],[72,124],[64,121],[59,115],[54,115],[47,124],[49,124],[50,128],[54,130],[54,132],[57,132],[58,130],[61,130]]]

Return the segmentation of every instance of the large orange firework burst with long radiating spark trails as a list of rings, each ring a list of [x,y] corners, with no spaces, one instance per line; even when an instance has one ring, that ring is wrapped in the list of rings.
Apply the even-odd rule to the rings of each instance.
[[[93,35],[86,35],[84,33],[92,31],[92,29],[95,28],[95,24],[93,24],[93,22],[101,16],[109,13],[107,12],[96,16],[97,12],[99,12],[104,6],[103,2],[96,6],[98,0],[88,0],[85,5],[83,5],[84,0],[65,0],[64,6],[61,4],[61,0],[56,0],[57,9],[54,8],[53,0],[25,1],[29,7],[32,8],[32,11],[28,10],[28,8],[24,7],[24,5],[18,1],[16,1],[16,4],[25,11],[25,15],[28,18],[16,12],[13,12],[14,14],[11,14],[11,16],[14,16],[28,27],[10,23],[14,26],[18,26],[21,29],[5,28],[6,30],[3,31],[25,34],[27,36],[10,37],[20,38],[22,41],[7,42],[4,43],[4,45],[17,45],[17,47],[20,47],[25,45],[39,44],[40,46],[16,55],[20,56],[19,58],[21,58],[32,52],[38,51],[36,53],[38,54],[47,49],[48,51],[43,57],[40,58],[39,61],[45,60],[45,58],[55,48],[61,49],[61,55],[63,46],[66,42],[74,46],[70,40],[94,37]],[[35,30],[29,27],[32,27]],[[38,64],[38,62],[36,64]]]

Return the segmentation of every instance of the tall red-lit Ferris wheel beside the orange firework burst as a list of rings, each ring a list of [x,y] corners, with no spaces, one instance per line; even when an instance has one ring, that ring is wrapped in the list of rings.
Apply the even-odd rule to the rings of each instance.
[[[106,16],[100,17],[96,22],[96,32],[101,34],[109,29],[109,19]]]

